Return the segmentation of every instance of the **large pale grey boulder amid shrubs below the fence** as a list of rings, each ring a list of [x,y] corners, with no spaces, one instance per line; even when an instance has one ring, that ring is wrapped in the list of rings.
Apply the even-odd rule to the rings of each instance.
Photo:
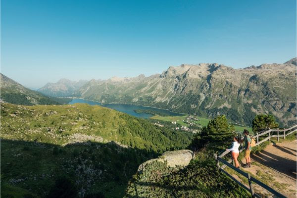
[[[174,150],[174,151],[167,151],[164,152],[159,158],[150,159],[144,163],[142,163],[138,167],[138,172],[142,173],[146,166],[153,162],[159,161],[163,163],[167,163],[167,166],[178,168],[178,167],[185,167],[188,166],[191,159],[195,157],[195,154],[192,150]]]

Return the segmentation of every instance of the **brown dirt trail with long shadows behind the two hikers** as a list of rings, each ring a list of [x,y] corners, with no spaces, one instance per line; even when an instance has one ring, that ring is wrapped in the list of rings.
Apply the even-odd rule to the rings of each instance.
[[[243,168],[256,179],[272,187],[288,198],[296,198],[296,162],[297,162],[297,141],[275,143],[272,142],[265,149],[251,155],[251,167]],[[246,163],[242,158],[241,163]],[[239,175],[235,175],[248,186],[247,181]],[[254,191],[263,197],[273,197],[271,193],[262,187],[253,184]]]

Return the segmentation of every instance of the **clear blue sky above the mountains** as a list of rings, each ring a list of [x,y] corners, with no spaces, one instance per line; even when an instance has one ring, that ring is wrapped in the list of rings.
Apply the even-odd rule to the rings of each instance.
[[[296,0],[1,0],[1,72],[39,88],[182,63],[283,63],[296,28]]]

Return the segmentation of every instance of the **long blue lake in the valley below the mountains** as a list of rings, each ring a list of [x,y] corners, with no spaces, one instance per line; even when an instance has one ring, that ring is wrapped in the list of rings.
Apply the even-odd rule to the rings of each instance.
[[[134,105],[134,104],[122,104],[122,103],[107,103],[107,104],[101,104],[100,102],[95,102],[95,101],[91,101],[91,100],[87,100],[87,99],[72,99],[72,101],[69,102],[69,104],[74,104],[74,103],[87,103],[90,105],[100,105],[100,106],[104,106],[107,108],[111,108],[123,113],[127,113],[130,115],[133,115],[135,117],[141,117],[141,118],[150,118],[151,114],[148,113],[136,113],[134,112],[134,110],[136,109],[149,109],[149,110],[154,110],[154,111],[158,111],[158,112],[162,112],[162,113],[167,113],[171,116],[179,116],[179,115],[183,115],[180,113],[175,113],[166,109],[159,109],[159,108],[154,108],[154,107],[148,107],[148,106],[141,106],[141,105]]]

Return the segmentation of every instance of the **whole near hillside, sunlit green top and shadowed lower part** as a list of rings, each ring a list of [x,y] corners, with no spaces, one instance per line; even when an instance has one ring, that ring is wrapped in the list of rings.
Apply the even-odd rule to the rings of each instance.
[[[46,197],[65,174],[78,190],[122,197],[140,163],[186,147],[188,135],[101,106],[1,103],[1,181]]]

